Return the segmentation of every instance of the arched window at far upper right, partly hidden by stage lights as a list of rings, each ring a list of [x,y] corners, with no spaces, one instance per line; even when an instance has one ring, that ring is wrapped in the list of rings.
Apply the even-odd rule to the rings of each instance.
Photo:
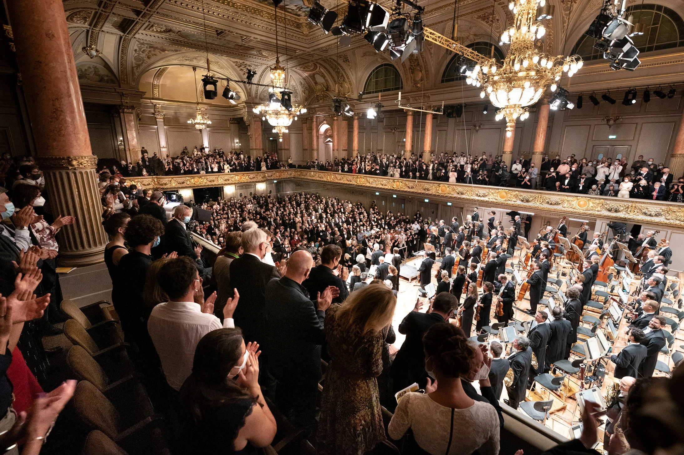
[[[684,21],[679,14],[663,5],[633,5],[627,8],[625,17],[632,15],[634,24],[644,24],[644,34],[631,37],[640,52],[670,49],[684,46]],[[584,60],[603,59],[603,53],[594,48],[594,38],[583,35],[573,54]]]

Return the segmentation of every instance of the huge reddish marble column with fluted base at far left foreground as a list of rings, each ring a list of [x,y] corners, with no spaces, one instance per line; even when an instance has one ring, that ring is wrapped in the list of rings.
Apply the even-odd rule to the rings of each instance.
[[[90,149],[64,5],[62,0],[8,0],[6,5],[47,199],[55,216],[76,218],[57,235],[58,261],[64,266],[99,263],[108,239],[97,157]]]

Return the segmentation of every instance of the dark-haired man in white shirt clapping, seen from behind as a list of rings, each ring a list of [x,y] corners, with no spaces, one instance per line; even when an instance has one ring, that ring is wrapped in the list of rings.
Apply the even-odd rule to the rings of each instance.
[[[161,360],[166,381],[181,390],[192,372],[195,349],[212,330],[235,327],[233,312],[239,300],[228,299],[223,309],[223,324],[213,315],[216,293],[205,301],[202,283],[194,261],[187,256],[171,259],[159,269],[157,281],[169,301],[153,308],[147,329]]]

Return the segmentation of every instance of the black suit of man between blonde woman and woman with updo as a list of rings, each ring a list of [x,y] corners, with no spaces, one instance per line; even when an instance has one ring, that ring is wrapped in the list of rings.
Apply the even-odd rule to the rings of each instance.
[[[444,318],[437,313],[411,311],[399,324],[399,333],[406,340],[392,362],[390,375],[394,379],[394,391],[402,390],[417,382],[421,388],[427,383],[425,374],[425,353],[423,335],[435,324],[443,323]]]

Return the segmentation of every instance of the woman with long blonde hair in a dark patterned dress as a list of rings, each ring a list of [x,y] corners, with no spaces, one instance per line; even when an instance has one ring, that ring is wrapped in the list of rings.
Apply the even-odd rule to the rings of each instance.
[[[358,455],[384,441],[376,378],[397,297],[384,284],[369,284],[326,312],[331,362],[326,370],[318,426],[322,452]]]

